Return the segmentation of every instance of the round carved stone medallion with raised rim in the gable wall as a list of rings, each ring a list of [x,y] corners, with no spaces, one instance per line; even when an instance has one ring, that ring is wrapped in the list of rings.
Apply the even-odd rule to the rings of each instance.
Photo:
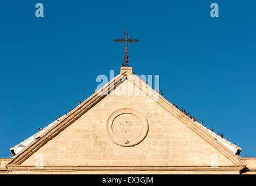
[[[135,109],[115,110],[107,120],[110,140],[121,146],[134,146],[142,142],[148,134],[148,121]]]

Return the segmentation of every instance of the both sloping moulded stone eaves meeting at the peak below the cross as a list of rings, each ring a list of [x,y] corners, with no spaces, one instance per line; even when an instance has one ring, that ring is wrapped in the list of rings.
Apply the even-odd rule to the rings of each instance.
[[[34,152],[41,148],[41,146],[45,145],[49,140],[61,133],[62,130],[64,130],[74,121],[79,119],[80,116],[82,116],[90,108],[96,105],[97,102],[99,102],[104,97],[110,95],[115,90],[115,87],[117,87],[121,83],[124,83],[127,80],[130,84],[138,87],[143,94],[148,95],[152,100],[162,106],[162,108],[167,110],[167,112],[169,112],[171,115],[184,123],[185,126],[194,131],[194,133],[198,134],[202,138],[202,140],[207,141],[213,147],[218,149],[218,151],[225,155],[228,159],[230,159],[234,163],[234,165],[245,166],[244,163],[241,162],[241,160],[230,151],[230,149],[228,149],[219,141],[215,140],[215,138],[213,138],[212,135],[205,131],[204,128],[202,128],[197,123],[192,121],[189,117],[184,115],[184,113],[175,108],[175,106],[173,106],[170,102],[160,96],[160,94],[153,90],[148,84],[143,82],[139,77],[132,74],[132,71],[129,70],[121,70],[121,73],[118,76],[116,76],[115,78],[113,78],[113,80],[101,87],[97,92],[94,92],[93,95],[80,103],[80,105],[78,105],[75,109],[67,113],[67,115],[59,118],[59,121],[50,124],[48,127],[45,127],[44,130],[37,133],[36,136],[40,138],[38,138],[37,140],[29,138],[29,144],[27,144],[26,147],[24,147],[19,153],[17,153],[17,155],[13,157],[13,160],[8,165],[20,165],[22,162],[24,162],[24,160],[29,158],[31,155],[33,155]],[[28,140],[24,142],[28,142]]]

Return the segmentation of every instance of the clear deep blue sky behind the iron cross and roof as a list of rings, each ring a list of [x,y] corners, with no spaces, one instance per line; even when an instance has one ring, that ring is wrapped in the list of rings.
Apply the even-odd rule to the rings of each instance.
[[[35,5],[44,4],[44,17]],[[210,5],[219,4],[219,17]],[[120,70],[127,28],[136,74],[256,156],[256,2],[1,1],[0,157],[85,100]]]

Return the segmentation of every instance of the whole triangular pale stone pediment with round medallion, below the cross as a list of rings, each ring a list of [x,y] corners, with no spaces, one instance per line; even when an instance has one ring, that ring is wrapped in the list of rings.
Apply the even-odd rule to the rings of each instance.
[[[36,169],[38,160],[43,169],[72,170],[244,167],[225,144],[129,70],[41,133],[25,141],[9,169]]]

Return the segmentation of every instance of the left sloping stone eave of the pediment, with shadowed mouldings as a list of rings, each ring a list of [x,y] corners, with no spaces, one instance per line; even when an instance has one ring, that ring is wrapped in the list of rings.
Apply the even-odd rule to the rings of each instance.
[[[89,98],[80,103],[75,109],[67,113],[67,115],[60,117],[58,121],[54,121],[49,126],[45,127],[44,130],[21,142],[19,145],[16,145],[15,147],[17,148],[23,143],[29,142],[26,147],[24,147],[19,153],[13,156],[13,160],[9,164],[21,164],[24,162],[24,160],[29,158],[29,156],[41,148],[41,146],[61,133],[62,130],[72,124],[75,120],[79,119],[79,117],[87,112],[87,110],[96,105],[97,102],[103,99],[106,95],[113,91],[118,84],[121,84],[126,79],[127,71],[124,71],[123,73],[113,78],[113,80],[109,81],[106,85],[101,87],[97,92],[94,92],[93,95],[89,96]],[[34,136],[40,138],[36,140],[33,138]],[[11,149],[15,149],[15,147]]]

